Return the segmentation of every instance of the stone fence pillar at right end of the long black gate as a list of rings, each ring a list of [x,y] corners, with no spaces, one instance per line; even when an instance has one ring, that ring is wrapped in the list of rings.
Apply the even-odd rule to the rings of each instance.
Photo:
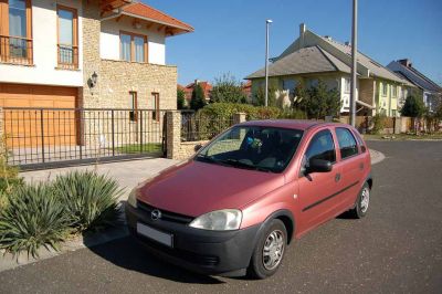
[[[173,159],[178,157],[181,144],[181,113],[169,111],[166,113],[166,119],[167,158]]]

